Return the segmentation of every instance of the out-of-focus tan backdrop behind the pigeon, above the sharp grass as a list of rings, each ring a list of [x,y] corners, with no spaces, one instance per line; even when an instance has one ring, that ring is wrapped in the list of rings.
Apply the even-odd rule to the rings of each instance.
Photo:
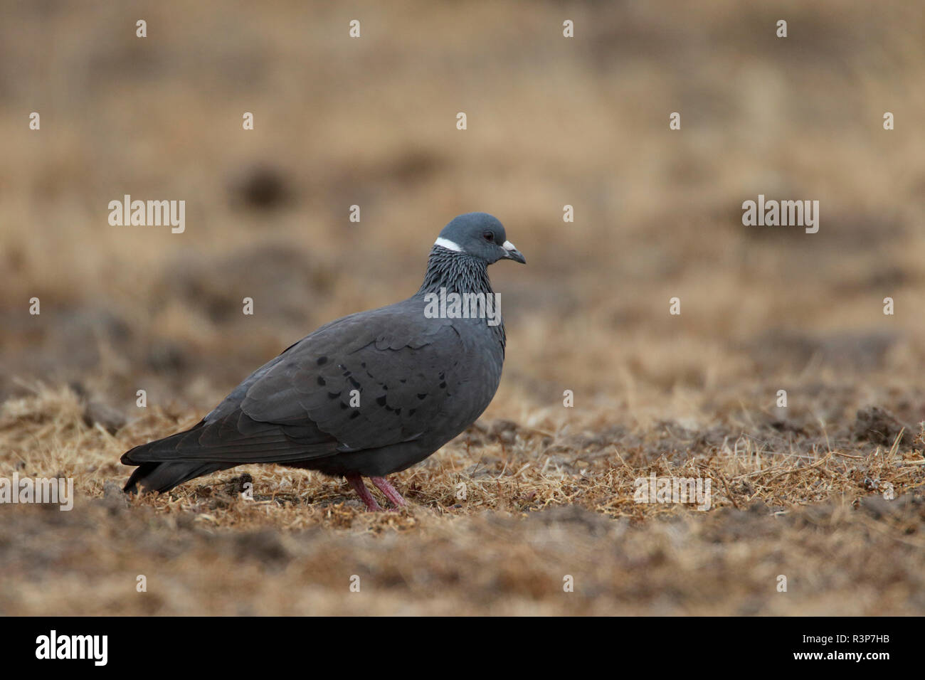
[[[921,365],[914,4],[2,12],[0,398],[78,380],[116,407],[146,387],[208,409],[318,325],[413,293],[438,230],[471,210],[529,262],[491,271],[509,403],[573,389],[644,417],[648,393],[663,410],[666,392],[756,374]],[[185,200],[185,233],[110,226],[127,193]],[[819,200],[819,233],[744,227],[759,193]]]

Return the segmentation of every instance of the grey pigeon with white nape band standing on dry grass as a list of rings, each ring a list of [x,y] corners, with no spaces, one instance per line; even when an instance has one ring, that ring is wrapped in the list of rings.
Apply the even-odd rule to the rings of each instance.
[[[190,429],[127,451],[127,493],[166,493],[241,464],[281,464],[345,477],[367,510],[407,501],[387,476],[423,461],[472,425],[504,363],[499,295],[487,266],[526,264],[487,213],[457,216],[401,303],[318,328],[255,370]]]

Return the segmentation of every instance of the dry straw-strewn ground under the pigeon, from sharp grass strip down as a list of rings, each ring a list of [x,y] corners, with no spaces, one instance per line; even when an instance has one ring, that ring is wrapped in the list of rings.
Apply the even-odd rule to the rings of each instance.
[[[920,436],[900,445],[903,432],[892,446],[837,448],[791,433],[774,450],[758,443],[763,432],[733,440],[676,422],[480,422],[398,476],[408,509],[366,513],[345,483],[282,467],[242,466],[127,501],[117,456],[177,427],[179,414],[155,411],[114,437],[85,412],[69,389],[4,405],[0,440],[16,453],[0,476],[70,476],[78,494],[69,513],[5,508],[16,521],[3,525],[0,567],[19,575],[0,587],[6,613],[925,608],[925,458]],[[874,437],[891,426],[876,427]],[[636,503],[635,478],[653,473],[709,478],[712,508]],[[240,496],[244,480],[253,500]],[[895,500],[882,498],[887,485]],[[137,575],[148,579],[143,595]],[[351,593],[354,575],[364,597]]]

